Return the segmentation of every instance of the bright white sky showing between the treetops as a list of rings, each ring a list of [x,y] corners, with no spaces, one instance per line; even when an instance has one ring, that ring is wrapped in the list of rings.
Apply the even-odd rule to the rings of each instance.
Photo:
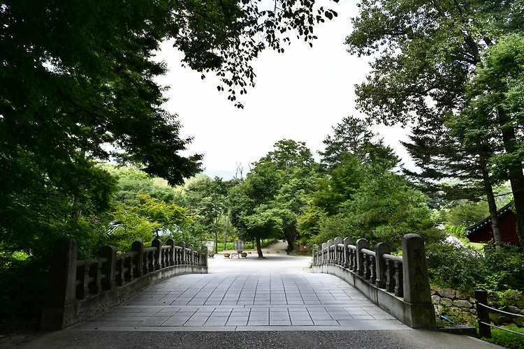
[[[367,57],[351,56],[344,45],[351,33],[350,18],[358,15],[356,1],[328,6],[338,17],[316,25],[318,39],[312,48],[295,40],[284,47],[284,54],[266,50],[253,62],[256,87],[237,95],[243,110],[228,101],[226,91],[217,90],[217,77],[208,73],[201,80],[201,73],[181,67],[180,52],[163,45],[157,59],[170,71],[157,82],[170,86],[165,107],[179,116],[182,137],[194,138],[188,154],[204,154],[205,172],[232,171],[242,163],[245,173],[249,163],[283,139],[305,142],[318,161],[316,151],[323,150],[322,140],[333,134],[332,126],[343,117],[362,116],[355,109],[354,84],[365,81],[370,66]],[[398,142],[406,139],[406,130],[385,126],[372,130],[406,165],[412,163]]]

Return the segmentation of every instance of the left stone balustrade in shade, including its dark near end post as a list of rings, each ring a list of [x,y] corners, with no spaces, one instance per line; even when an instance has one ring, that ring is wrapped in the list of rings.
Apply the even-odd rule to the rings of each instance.
[[[48,295],[41,329],[63,329],[121,304],[152,285],[181,274],[208,272],[208,251],[173,239],[152,247],[133,242],[131,252],[117,254],[104,246],[99,258],[77,260],[75,239],[64,237],[54,244]]]

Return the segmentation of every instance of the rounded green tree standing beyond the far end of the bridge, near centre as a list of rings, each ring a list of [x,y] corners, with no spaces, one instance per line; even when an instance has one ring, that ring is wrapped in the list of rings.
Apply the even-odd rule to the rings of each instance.
[[[283,233],[288,253],[297,251],[297,218],[316,177],[310,149],[303,142],[280,140],[253,165],[247,179],[230,192],[231,223],[245,239]]]

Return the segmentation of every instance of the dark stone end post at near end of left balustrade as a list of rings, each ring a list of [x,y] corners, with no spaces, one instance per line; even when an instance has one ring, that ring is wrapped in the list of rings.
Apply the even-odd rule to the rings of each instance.
[[[77,253],[78,245],[71,237],[63,237],[54,243],[41,329],[63,329],[68,325],[65,308],[76,300]]]

